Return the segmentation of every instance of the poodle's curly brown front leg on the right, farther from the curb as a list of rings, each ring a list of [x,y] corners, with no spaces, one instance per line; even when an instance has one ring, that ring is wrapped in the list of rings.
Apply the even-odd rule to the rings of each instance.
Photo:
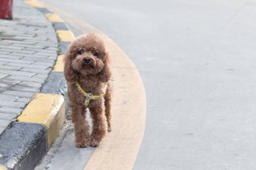
[[[92,103],[90,113],[92,117],[91,146],[96,147],[106,135],[107,130],[104,99]]]

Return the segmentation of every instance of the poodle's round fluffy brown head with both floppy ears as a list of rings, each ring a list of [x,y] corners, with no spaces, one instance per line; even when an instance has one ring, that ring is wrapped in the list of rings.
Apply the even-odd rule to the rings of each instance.
[[[96,77],[100,82],[110,79],[110,56],[96,34],[79,36],[65,53],[64,75],[75,82],[84,77]]]

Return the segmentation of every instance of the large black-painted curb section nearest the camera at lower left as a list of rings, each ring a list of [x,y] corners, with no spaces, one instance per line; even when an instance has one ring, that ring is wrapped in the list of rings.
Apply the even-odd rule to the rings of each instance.
[[[46,153],[46,128],[14,122],[0,136],[0,164],[8,169],[30,170]]]

